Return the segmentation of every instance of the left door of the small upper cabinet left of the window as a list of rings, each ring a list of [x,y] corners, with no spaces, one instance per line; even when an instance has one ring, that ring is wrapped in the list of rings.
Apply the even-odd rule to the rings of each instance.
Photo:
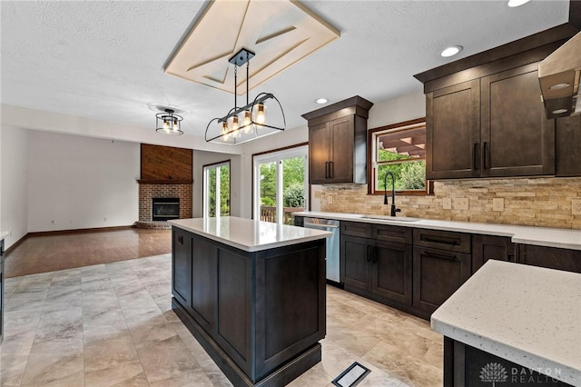
[[[328,123],[309,127],[309,183],[327,183],[330,168]]]

